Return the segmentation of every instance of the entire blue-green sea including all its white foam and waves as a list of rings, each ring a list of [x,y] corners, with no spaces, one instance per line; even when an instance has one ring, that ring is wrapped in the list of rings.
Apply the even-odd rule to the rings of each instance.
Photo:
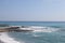
[[[1,32],[5,43],[65,43],[65,22],[0,22],[10,26],[28,26],[34,31]]]

